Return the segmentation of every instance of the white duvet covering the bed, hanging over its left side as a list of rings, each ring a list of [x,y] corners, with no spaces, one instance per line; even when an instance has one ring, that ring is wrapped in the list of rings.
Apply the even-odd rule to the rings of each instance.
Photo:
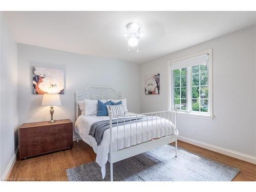
[[[134,113],[127,112],[125,113],[125,115],[132,115],[132,117],[135,117]],[[172,115],[169,115],[170,120],[172,120],[171,116]],[[139,117],[141,117],[141,115],[138,115],[138,118]],[[96,115],[80,115],[75,122],[74,128],[75,132],[79,134],[82,140],[88,143],[90,146],[92,146],[94,152],[97,154],[96,162],[101,167],[102,178],[104,178],[105,164],[108,161],[108,154],[110,152],[110,130],[108,129],[104,132],[103,139],[99,146],[97,146],[94,137],[89,135],[91,125],[94,122],[102,120],[109,120],[109,117]],[[118,126],[118,131],[117,127],[113,127],[113,151],[117,151],[117,148],[118,150],[121,150],[124,147],[130,147],[131,143],[132,145],[136,145],[136,140],[137,144],[139,144],[141,143],[142,140],[143,142],[145,142],[147,140],[151,140],[152,138],[155,139],[156,136],[163,137],[166,135],[172,135],[173,133],[175,133],[174,124],[171,121],[169,121],[167,117],[166,119],[160,117],[154,119],[153,117],[152,120],[152,117],[148,116],[148,121],[138,122],[137,126],[136,123],[125,124],[125,127],[124,125],[121,125]],[[130,137],[130,135],[132,135],[132,137]]]

